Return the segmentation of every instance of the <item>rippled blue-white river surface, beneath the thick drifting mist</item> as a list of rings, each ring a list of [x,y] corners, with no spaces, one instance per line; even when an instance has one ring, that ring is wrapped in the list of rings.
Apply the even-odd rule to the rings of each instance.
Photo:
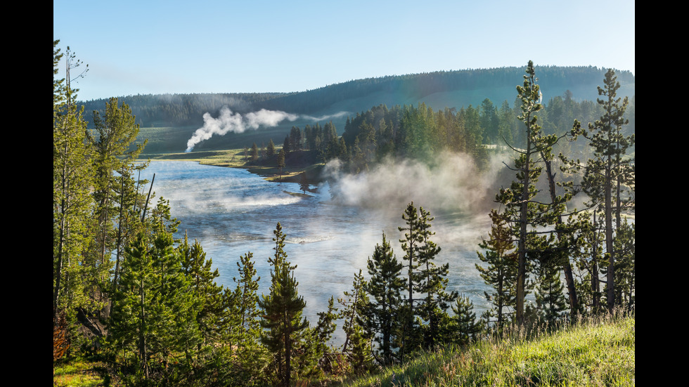
[[[198,240],[218,268],[219,284],[234,288],[240,256],[251,251],[259,294],[270,284],[269,256],[273,255],[273,230],[283,226],[288,260],[297,265],[298,291],[307,301],[306,316],[315,324],[316,313],[328,308],[330,296],[342,296],[352,287],[354,274],[363,270],[382,232],[391,242],[398,259],[404,256],[397,230],[404,225],[401,214],[377,209],[340,205],[330,199],[328,186],[308,197],[297,183],[270,183],[244,169],[203,166],[195,162],[151,162],[142,178],[155,173],[153,191],[169,199],[172,215],[181,224],[177,237],[186,232]],[[411,202],[411,199],[409,200]],[[417,203],[422,205],[423,203]],[[483,283],[475,264],[481,237],[487,235],[487,214],[465,216],[459,211],[434,213],[434,242],[441,247],[438,263],[449,262],[449,290],[469,296],[477,315],[487,306]],[[335,339],[335,342],[339,342]]]

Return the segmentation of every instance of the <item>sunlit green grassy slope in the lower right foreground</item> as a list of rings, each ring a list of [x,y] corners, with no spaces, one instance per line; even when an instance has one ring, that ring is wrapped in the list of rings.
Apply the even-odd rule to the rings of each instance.
[[[520,329],[468,348],[421,353],[343,386],[634,386],[635,318],[599,317],[536,332]]]

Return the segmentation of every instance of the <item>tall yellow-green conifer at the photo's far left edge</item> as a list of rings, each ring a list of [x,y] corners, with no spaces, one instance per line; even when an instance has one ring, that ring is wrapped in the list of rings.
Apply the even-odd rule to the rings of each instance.
[[[75,343],[77,310],[93,306],[87,279],[97,277],[85,257],[95,229],[89,195],[93,164],[83,107],[77,108],[77,90],[71,87],[71,81],[81,77],[72,77],[71,71],[82,63],[69,47],[66,57],[60,53],[58,43],[53,41],[53,327],[64,313],[67,336]],[[66,77],[55,79],[63,59]]]

